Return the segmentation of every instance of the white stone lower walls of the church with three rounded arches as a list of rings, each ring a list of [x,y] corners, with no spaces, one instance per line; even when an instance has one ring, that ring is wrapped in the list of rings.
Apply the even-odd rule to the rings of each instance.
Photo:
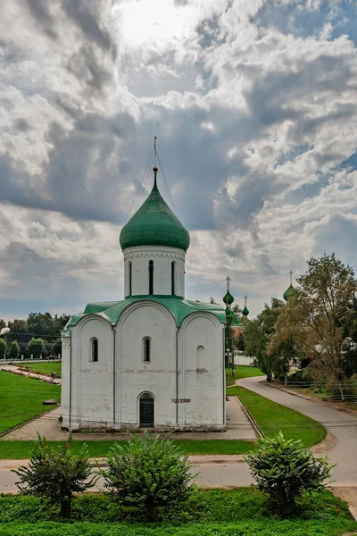
[[[90,360],[93,337],[97,363]],[[143,360],[145,337],[151,339],[150,363]],[[144,392],[154,396],[159,428],[224,426],[223,325],[214,314],[190,314],[178,331],[166,307],[143,300],[127,307],[114,329],[99,315],[85,316],[71,328],[71,351],[69,337],[62,340],[64,427],[137,428]]]

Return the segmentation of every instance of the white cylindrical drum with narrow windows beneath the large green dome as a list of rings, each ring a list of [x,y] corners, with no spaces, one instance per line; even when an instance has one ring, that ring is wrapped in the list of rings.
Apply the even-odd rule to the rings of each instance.
[[[129,296],[149,293],[149,261],[154,262],[154,294],[171,294],[171,263],[175,262],[175,295],[185,296],[185,252],[175,247],[128,247],[124,251],[124,291]]]

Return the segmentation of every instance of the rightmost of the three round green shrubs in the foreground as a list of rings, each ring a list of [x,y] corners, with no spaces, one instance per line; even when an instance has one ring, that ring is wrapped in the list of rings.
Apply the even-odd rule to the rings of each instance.
[[[286,440],[281,432],[264,439],[245,460],[258,489],[269,495],[270,507],[285,517],[295,513],[303,492],[319,491],[330,476],[328,458],[315,460],[301,440]]]

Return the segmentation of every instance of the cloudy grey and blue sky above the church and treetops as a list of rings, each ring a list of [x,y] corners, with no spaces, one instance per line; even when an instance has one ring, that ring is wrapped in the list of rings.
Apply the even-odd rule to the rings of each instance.
[[[353,0],[2,0],[0,318],[122,297],[155,134],[187,297],[356,266],[356,39]]]

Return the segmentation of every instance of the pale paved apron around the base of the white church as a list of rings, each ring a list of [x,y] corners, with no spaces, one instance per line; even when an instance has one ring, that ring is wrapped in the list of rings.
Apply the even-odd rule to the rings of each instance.
[[[10,431],[2,440],[37,440],[37,431],[49,441],[64,441],[68,432],[62,431],[59,418],[61,407],[24,424],[21,428]],[[138,431],[133,431],[137,434]],[[163,435],[166,435],[164,433]],[[179,431],[170,433],[173,440],[256,440],[251,423],[237,401],[236,397],[228,397],[227,402],[227,431]],[[127,432],[75,433],[73,440],[129,440]]]

